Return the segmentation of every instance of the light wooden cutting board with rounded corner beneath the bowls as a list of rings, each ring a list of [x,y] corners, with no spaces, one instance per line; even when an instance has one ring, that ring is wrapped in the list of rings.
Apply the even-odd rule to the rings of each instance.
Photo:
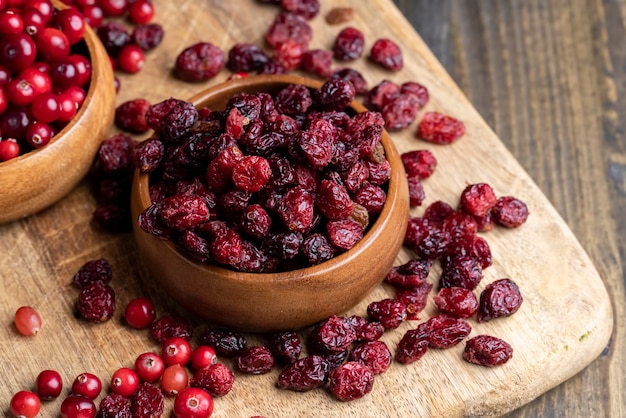
[[[172,64],[178,52],[200,40],[225,50],[242,41],[262,44],[265,29],[277,10],[251,0],[154,3],[156,21],[166,30],[165,40],[148,55],[140,74],[119,75],[122,87],[118,103],[136,97],[152,102],[170,96],[188,98],[199,89],[223,81],[228,76],[226,71],[210,82],[184,83],[171,76]],[[464,344],[431,350],[411,365],[394,362],[376,378],[371,394],[349,403],[334,400],[325,390],[306,394],[281,391],[275,387],[278,370],[264,376],[238,373],[232,392],[216,399],[214,416],[498,416],[579,372],[606,346],[612,330],[612,311],[602,279],[576,237],[391,1],[321,3],[322,13],[312,21],[311,48],[329,48],[346,26],[328,25],[325,13],[335,6],[352,7],[354,19],[349,24],[364,32],[367,48],[375,39],[388,37],[397,41],[404,52],[405,68],[398,73],[377,68],[366,59],[351,64],[364,74],[370,86],[385,78],[398,83],[418,81],[431,94],[425,110],[438,110],[465,122],[465,137],[451,146],[434,146],[417,139],[415,125],[392,133],[400,152],[427,148],[439,161],[435,174],[424,182],[427,200],[423,207],[435,200],[456,205],[465,185],[477,182],[487,182],[498,195],[514,195],[528,204],[531,215],[521,228],[495,228],[484,235],[494,263],[485,270],[485,280],[478,289],[498,278],[510,277],[519,284],[524,304],[510,318],[487,324],[471,321],[471,335],[488,333],[507,340],[515,350],[514,357],[501,367],[488,369],[461,359]],[[117,368],[132,366],[140,353],[158,350],[148,331],[130,330],[123,325],[123,307],[131,299],[152,298],[160,315],[185,314],[152,284],[130,234],[107,234],[92,225],[94,207],[85,182],[48,210],[0,226],[0,277],[4,289],[0,306],[5,324],[0,327],[5,347],[0,363],[2,410],[7,410],[12,393],[32,389],[43,369],[58,370],[66,387],[84,371],[107,382]],[[419,216],[423,207],[413,209],[412,214]],[[403,251],[397,263],[410,256]],[[100,257],[107,258],[113,267],[112,286],[119,308],[113,320],[94,325],[74,317],[78,292],[71,285],[71,277],[83,263]],[[434,267],[430,280],[437,280],[439,273],[440,269]],[[365,315],[369,302],[390,295],[390,289],[381,285],[346,314]],[[13,313],[21,305],[32,305],[41,313],[44,328],[39,335],[22,337],[11,326]],[[435,313],[430,302],[422,317]],[[200,328],[203,324],[197,325]],[[405,323],[389,331],[383,340],[395,350],[404,332],[416,325]],[[249,337],[252,344],[262,341],[257,336]],[[168,400],[168,410],[171,405]],[[55,416],[59,406],[59,400],[46,403],[41,415]]]

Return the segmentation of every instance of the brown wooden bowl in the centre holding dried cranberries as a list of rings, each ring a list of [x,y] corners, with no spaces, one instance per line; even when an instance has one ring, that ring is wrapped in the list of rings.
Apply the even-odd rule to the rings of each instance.
[[[228,81],[190,99],[196,107],[223,109],[240,92],[275,92],[289,84],[318,88],[296,76],[257,76]],[[362,112],[357,102],[352,108]],[[406,230],[409,199],[402,162],[386,132],[382,139],[391,163],[387,201],[363,239],[347,252],[319,265],[262,274],[240,273],[187,258],[166,240],[134,222],[139,253],[151,276],[180,305],[216,324],[252,332],[300,329],[340,314],[366,297],[396,258]],[[132,214],[150,206],[149,175],[135,173]]]

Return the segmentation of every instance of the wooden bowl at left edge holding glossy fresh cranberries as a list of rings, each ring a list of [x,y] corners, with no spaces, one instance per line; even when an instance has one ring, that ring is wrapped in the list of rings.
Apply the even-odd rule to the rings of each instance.
[[[89,27],[84,39],[92,66],[85,101],[48,145],[0,163],[0,223],[38,212],[69,193],[89,171],[111,128],[115,114],[111,63]]]

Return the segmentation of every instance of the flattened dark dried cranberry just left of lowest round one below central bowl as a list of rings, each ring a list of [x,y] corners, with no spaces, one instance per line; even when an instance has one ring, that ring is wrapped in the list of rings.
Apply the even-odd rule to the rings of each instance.
[[[322,386],[328,372],[328,362],[324,357],[304,357],[291,363],[278,375],[278,387],[296,392],[309,391]]]

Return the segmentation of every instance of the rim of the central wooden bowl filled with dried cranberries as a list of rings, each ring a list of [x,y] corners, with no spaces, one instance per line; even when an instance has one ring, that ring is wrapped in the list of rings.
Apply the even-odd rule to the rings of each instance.
[[[273,85],[277,89],[280,86],[287,86],[289,84],[302,84],[309,89],[317,89],[322,86],[323,82],[319,80],[314,80],[298,75],[274,75],[274,74],[264,74],[264,75],[254,75],[242,79],[232,79],[217,84],[215,86],[209,87],[207,89],[202,90],[199,93],[196,93],[191,98],[187,99],[188,102],[193,103],[196,107],[202,105],[203,102],[209,100],[212,96],[217,94],[223,94],[225,92],[231,92],[235,94],[237,92],[241,92],[242,89],[248,89],[254,91],[254,87],[263,86],[263,85]],[[363,104],[358,102],[356,99],[350,103],[349,107],[354,109],[356,112],[361,113],[367,111]],[[210,108],[210,107],[209,107]],[[385,150],[386,159],[390,162],[392,169],[391,175],[388,180],[387,186],[387,199],[385,204],[378,214],[376,221],[374,224],[370,225],[367,229],[367,232],[363,235],[363,238],[355,244],[354,247],[349,250],[336,255],[330,260],[326,260],[322,263],[307,266],[304,268],[299,268],[295,270],[281,271],[281,272],[270,272],[270,273],[250,273],[250,272],[241,272],[237,270],[232,270],[226,267],[222,267],[216,264],[209,264],[205,262],[201,262],[198,260],[194,260],[190,257],[187,257],[182,251],[180,251],[177,246],[169,239],[162,239],[150,234],[147,231],[141,229],[137,224],[137,220],[133,217],[133,228],[135,231],[139,231],[139,233],[143,233],[148,235],[150,238],[160,241],[164,244],[164,248],[167,251],[174,253],[178,258],[182,261],[187,262],[198,269],[204,270],[208,275],[219,275],[221,277],[228,277],[229,280],[234,282],[246,283],[249,281],[254,281],[257,284],[269,284],[276,283],[281,281],[290,281],[294,279],[305,279],[307,277],[320,277],[325,276],[328,273],[331,273],[333,270],[340,268],[342,266],[348,265],[352,258],[355,257],[356,254],[362,252],[365,248],[369,246],[370,243],[375,241],[383,232],[385,225],[390,222],[389,212],[396,201],[396,196],[400,193],[400,187],[402,185],[402,178],[406,177],[404,172],[404,167],[401,164],[400,156],[398,151],[393,144],[389,133],[383,129],[381,143],[383,144]],[[135,169],[135,173],[133,176],[133,183],[136,188],[133,188],[133,193],[137,193],[137,197],[139,198],[140,203],[140,211],[143,212],[147,209],[152,203],[149,194],[149,179],[150,173],[140,173],[138,169]],[[407,199],[408,201],[408,199]],[[407,202],[408,204],[408,202]],[[137,233],[137,232],[135,232]]]

